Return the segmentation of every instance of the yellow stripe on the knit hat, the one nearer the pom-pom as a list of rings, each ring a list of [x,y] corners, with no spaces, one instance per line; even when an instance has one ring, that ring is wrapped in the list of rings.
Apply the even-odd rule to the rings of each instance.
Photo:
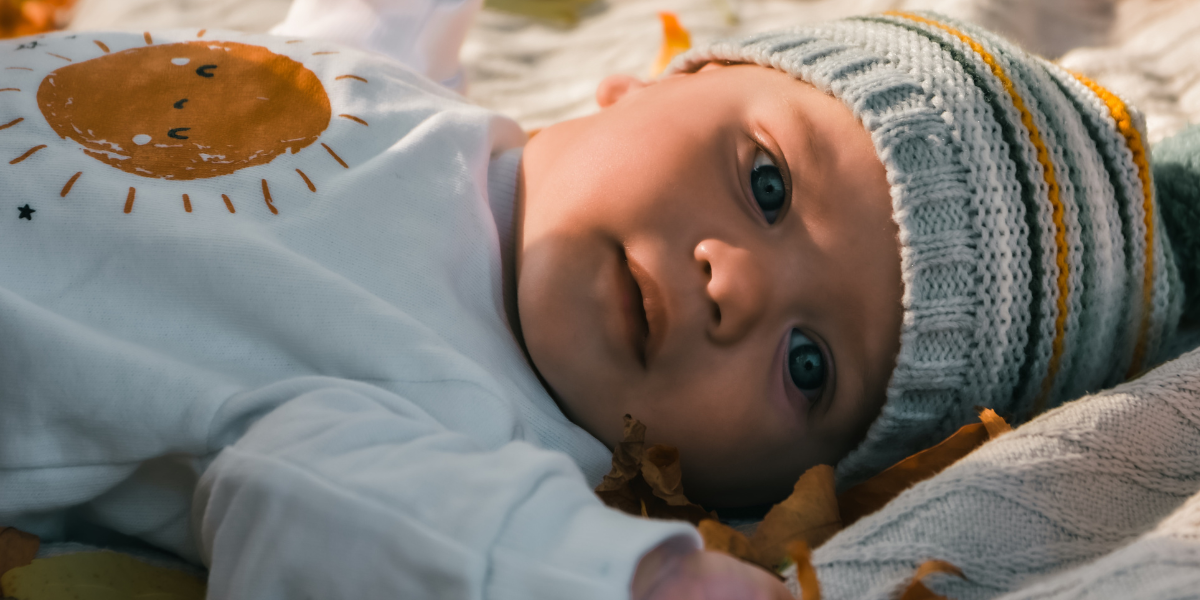
[[[1133,348],[1133,361],[1126,371],[1126,378],[1133,377],[1141,371],[1146,360],[1146,343],[1150,335],[1150,317],[1153,312],[1154,299],[1154,190],[1150,185],[1150,161],[1146,160],[1146,145],[1141,140],[1141,133],[1133,124],[1133,116],[1124,102],[1116,94],[1102,88],[1098,83],[1072,72],[1075,79],[1092,90],[1093,94],[1104,101],[1109,107],[1109,114],[1117,122],[1117,130],[1126,138],[1126,145],[1133,152],[1133,162],[1138,166],[1138,179],[1141,180],[1141,206],[1142,220],[1146,223],[1146,269],[1141,281],[1141,326],[1138,328],[1138,343]]]

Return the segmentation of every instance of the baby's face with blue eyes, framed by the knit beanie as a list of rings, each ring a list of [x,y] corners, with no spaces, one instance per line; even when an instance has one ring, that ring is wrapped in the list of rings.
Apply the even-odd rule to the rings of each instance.
[[[524,151],[526,348],[610,446],[625,414],[678,446],[690,497],[778,500],[884,401],[902,284],[883,166],[840,101],[766,67],[598,97]]]

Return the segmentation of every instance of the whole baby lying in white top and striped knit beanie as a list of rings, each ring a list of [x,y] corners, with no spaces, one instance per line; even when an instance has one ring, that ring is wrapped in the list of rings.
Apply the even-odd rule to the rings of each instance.
[[[600,504],[623,415],[694,499],[763,504],[1178,322],[1136,113],[966,24],[718,43],[526,142],[319,36],[452,84],[422,40],[473,5],[322,6],[4,46],[0,526],[149,542],[216,598],[790,598]]]

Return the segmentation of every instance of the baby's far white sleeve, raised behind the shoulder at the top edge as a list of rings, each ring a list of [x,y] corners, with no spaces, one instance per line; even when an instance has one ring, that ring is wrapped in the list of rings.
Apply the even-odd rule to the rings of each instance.
[[[462,92],[458,49],[481,6],[482,0],[293,0],[271,34],[383,54]]]

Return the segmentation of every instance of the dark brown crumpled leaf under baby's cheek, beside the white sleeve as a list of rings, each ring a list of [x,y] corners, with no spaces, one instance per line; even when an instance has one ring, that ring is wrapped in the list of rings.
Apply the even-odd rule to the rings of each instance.
[[[716,518],[684,496],[679,450],[662,444],[644,446],[646,426],[625,415],[624,438],[612,454],[612,469],[596,486],[596,496],[630,515],[692,524]]]

